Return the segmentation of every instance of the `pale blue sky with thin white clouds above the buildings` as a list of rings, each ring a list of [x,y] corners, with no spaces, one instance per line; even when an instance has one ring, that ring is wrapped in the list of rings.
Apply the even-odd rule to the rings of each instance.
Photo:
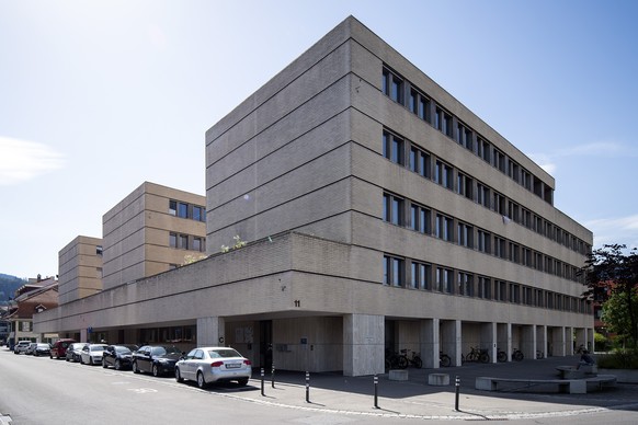
[[[638,246],[636,1],[0,0],[0,273],[58,274],[145,181],[205,195],[205,131],[349,15]]]

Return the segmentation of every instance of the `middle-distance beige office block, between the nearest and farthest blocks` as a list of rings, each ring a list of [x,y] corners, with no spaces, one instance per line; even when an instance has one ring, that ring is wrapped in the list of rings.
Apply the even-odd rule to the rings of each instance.
[[[104,289],[204,255],[206,198],[145,182],[102,219]]]

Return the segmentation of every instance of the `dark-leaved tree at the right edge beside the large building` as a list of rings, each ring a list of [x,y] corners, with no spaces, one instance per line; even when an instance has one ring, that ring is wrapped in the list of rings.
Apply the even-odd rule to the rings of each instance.
[[[619,311],[626,312],[627,319],[626,324],[623,324],[627,329],[618,333],[628,335],[628,343],[636,347],[638,343],[638,309],[633,302],[633,295],[638,288],[637,250],[627,250],[627,245],[622,244],[604,245],[588,254],[583,271],[586,273],[588,285],[588,290],[583,297],[603,302],[614,297],[615,302],[622,306]]]

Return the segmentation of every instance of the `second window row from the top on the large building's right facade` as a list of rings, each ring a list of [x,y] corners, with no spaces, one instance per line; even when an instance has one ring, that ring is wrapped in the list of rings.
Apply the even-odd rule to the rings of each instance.
[[[567,230],[533,214],[527,208],[509,199],[472,176],[457,171],[452,165],[433,157],[430,152],[396,133],[384,129],[381,143],[383,156],[391,162],[406,166],[424,179],[432,180],[434,183],[454,191],[467,199],[480,204],[521,226],[525,226],[572,251],[584,255],[591,250],[589,244]]]

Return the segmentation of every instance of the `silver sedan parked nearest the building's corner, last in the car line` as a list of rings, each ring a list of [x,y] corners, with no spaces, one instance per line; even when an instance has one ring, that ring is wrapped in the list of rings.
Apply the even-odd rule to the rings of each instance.
[[[175,365],[175,380],[190,379],[204,388],[207,383],[237,381],[246,386],[252,376],[252,364],[230,347],[194,348]]]

